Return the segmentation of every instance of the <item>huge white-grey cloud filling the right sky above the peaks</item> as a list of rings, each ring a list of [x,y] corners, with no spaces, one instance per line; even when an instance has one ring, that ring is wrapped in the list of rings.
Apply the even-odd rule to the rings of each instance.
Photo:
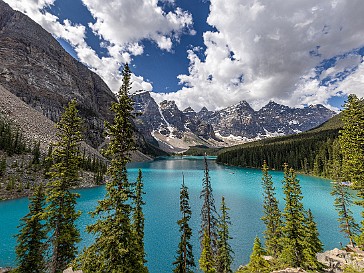
[[[210,109],[247,100],[260,107],[269,100],[290,106],[323,103],[339,90],[321,86],[314,68],[323,60],[364,46],[362,0],[210,0],[204,33],[206,50],[190,50],[185,87],[173,94],[183,108]],[[201,57],[201,54],[203,55]],[[345,59],[332,71],[358,65]],[[344,92],[363,92],[363,65],[341,85]],[[351,88],[354,86],[355,88]],[[350,91],[349,91],[350,90]]]

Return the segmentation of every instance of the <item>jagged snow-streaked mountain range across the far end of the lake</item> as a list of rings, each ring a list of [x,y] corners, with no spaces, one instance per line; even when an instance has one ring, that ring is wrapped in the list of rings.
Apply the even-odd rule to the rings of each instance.
[[[181,111],[174,101],[159,105],[149,92],[132,95],[135,124],[147,141],[167,151],[189,146],[229,146],[264,137],[294,134],[314,128],[335,115],[323,105],[290,108],[273,101],[255,111],[246,101],[209,111]]]

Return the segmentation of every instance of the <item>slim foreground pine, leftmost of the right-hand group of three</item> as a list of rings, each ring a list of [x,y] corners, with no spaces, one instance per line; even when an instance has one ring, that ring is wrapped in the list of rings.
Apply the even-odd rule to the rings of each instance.
[[[268,166],[265,161],[262,172],[262,186],[264,189],[264,216],[262,217],[262,220],[266,227],[264,231],[265,247],[269,255],[277,258],[278,254],[281,252],[281,246],[279,244],[279,240],[282,237],[281,212],[278,208],[278,200],[275,197],[272,176],[268,173]]]

